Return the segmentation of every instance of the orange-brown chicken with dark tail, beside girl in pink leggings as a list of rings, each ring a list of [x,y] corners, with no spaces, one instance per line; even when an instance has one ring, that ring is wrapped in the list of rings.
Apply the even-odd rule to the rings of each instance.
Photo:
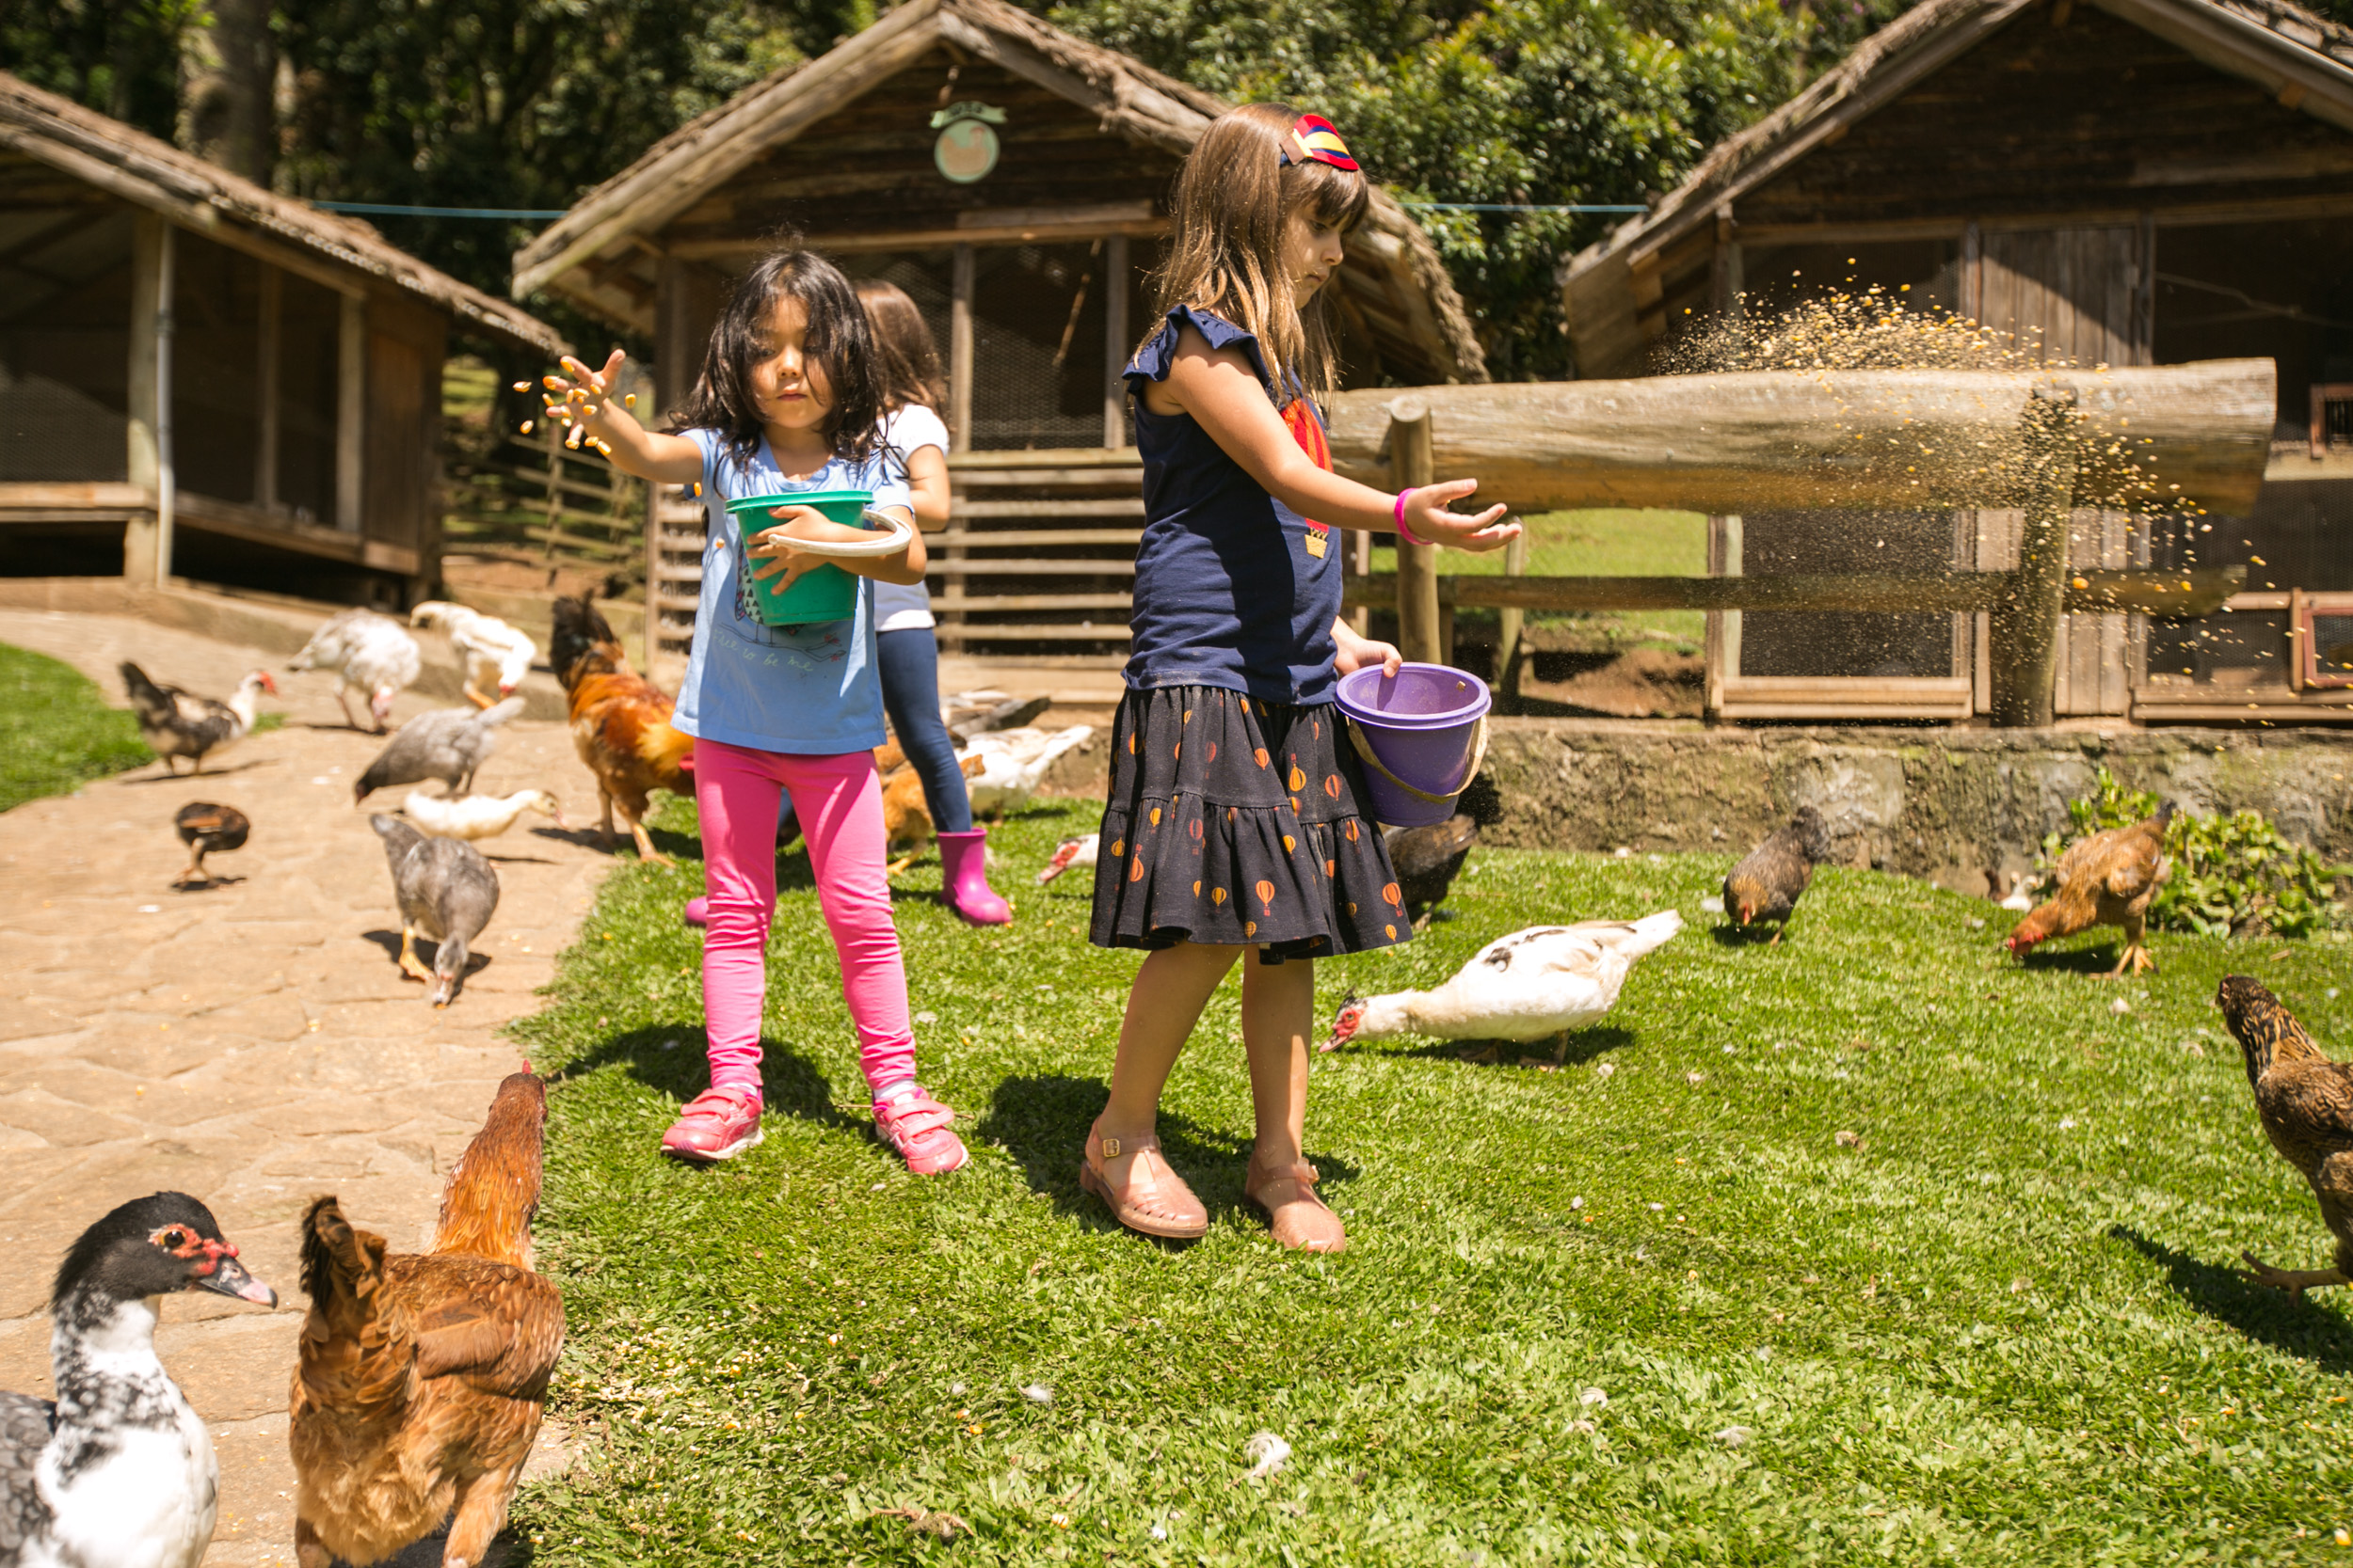
[[[631,668],[621,639],[588,595],[555,599],[548,663],[572,703],[572,745],[595,776],[605,842],[614,839],[612,813],[619,811],[638,839],[638,858],[668,865],[671,858],[654,851],[645,830],[645,797],[652,790],[689,792],[682,778],[694,766],[694,736],[671,726],[671,698]]]

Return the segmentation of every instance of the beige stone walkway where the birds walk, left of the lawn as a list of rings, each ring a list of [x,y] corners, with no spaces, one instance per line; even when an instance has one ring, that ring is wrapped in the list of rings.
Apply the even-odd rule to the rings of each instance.
[[[0,642],[61,658],[122,701],[115,663],[226,696],[271,661],[111,616],[0,609]],[[47,1291],[66,1244],[111,1206],[176,1187],[219,1215],[275,1312],[179,1295],[165,1366],[212,1422],[221,1526],[212,1568],[292,1563],[287,1380],[304,1295],[294,1225],[334,1192],[395,1248],[431,1232],[442,1173],[518,1067],[499,1030],[539,1006],[609,856],[525,818],[480,844],[499,870],[489,964],[433,1011],[393,964],[400,917],[351,780],[381,745],[344,729],[327,675],[282,675],[287,726],[167,780],[162,764],[0,816],[0,1387],[49,1392]],[[405,696],[395,717],[435,703]],[[560,724],[515,722],[482,792],[548,788],[593,825],[595,785]],[[405,790],[369,799],[393,811]],[[233,804],[252,842],[181,893],[172,813]],[[560,1434],[541,1436],[548,1460]],[[433,1556],[431,1561],[438,1561]]]

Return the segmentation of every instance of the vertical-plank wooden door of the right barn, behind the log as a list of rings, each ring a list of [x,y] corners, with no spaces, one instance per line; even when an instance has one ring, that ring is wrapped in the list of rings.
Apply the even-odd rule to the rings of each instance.
[[[2155,228],[1993,228],[1962,242],[1962,313],[2012,339],[2035,364],[2151,364],[2155,331]],[[2017,512],[1979,512],[1977,564],[2017,567]],[[2125,512],[2078,510],[2068,562],[2132,567],[2148,550]],[[1986,708],[1986,616],[1977,616],[1979,710]],[[2054,705],[2061,715],[2122,715],[2132,708],[2137,621],[2071,614],[2059,625]]]

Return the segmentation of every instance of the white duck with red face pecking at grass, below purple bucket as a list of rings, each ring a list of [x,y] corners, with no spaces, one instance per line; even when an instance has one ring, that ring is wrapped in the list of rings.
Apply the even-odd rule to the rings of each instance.
[[[1532,1041],[1598,1023],[1617,1006],[1626,971],[1682,931],[1682,917],[1659,910],[1642,919],[1584,919],[1529,926],[1480,947],[1452,980],[1426,992],[1351,997],[1332,1020],[1325,1051],[1348,1039],[1433,1034],[1438,1039]]]

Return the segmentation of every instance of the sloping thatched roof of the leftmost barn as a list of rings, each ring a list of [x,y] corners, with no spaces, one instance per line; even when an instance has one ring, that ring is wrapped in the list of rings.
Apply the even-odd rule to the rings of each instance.
[[[0,71],[0,153],[47,165],[200,235],[294,270],[362,273],[544,355],[567,353],[539,317],[428,268],[367,223],[264,190],[219,165]]]

